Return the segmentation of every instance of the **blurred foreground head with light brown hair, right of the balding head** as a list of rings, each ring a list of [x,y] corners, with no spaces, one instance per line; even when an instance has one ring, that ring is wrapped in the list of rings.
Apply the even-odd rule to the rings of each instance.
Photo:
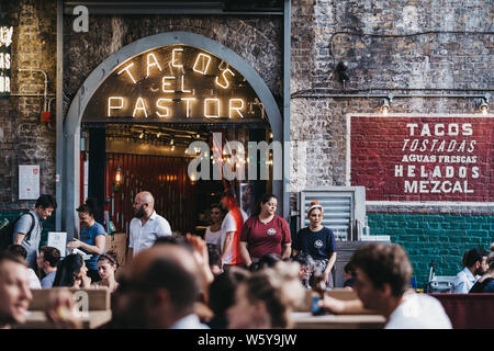
[[[291,314],[304,298],[299,280],[300,264],[278,262],[244,279],[228,308],[229,329],[291,328]]]

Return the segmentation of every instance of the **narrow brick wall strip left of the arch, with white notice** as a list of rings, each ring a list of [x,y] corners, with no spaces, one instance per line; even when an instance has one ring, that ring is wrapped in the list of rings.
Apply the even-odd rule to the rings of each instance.
[[[14,27],[11,46],[11,91],[0,101],[0,208],[26,208],[34,201],[19,201],[19,165],[40,165],[41,193],[55,194],[55,124],[41,122],[44,107],[43,72],[48,93],[56,88],[56,2],[22,0],[7,4],[9,24]],[[55,109],[55,103],[52,104]]]

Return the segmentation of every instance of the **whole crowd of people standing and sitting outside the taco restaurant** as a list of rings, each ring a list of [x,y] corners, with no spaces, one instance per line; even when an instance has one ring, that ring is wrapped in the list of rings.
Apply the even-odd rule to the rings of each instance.
[[[63,258],[58,249],[46,246],[37,252],[41,219],[56,208],[55,200],[43,195],[35,210],[18,220],[12,245],[0,253],[0,327],[25,320],[32,288],[69,287],[110,291],[112,318],[101,328],[291,328],[293,310],[310,290],[321,283],[334,286],[337,246],[333,231],[322,225],[321,203],[311,203],[310,224],[293,241],[287,220],[276,215],[277,205],[278,199],[266,194],[247,217],[226,192],[210,206],[211,225],[201,238],[173,235],[154,210],[153,195],[138,193],[126,263],[119,268],[116,257],[105,252],[106,233],[94,220],[92,200],[77,208],[80,235],[67,245],[90,259],[79,253]],[[463,267],[454,292],[493,291],[494,252],[469,250]],[[323,294],[317,302],[321,310],[371,309],[385,317],[386,328],[451,328],[436,298],[411,290],[412,264],[401,246],[361,246],[344,270],[344,286],[358,298],[340,301]],[[71,313],[70,291],[53,294],[47,319],[54,327],[80,327]]]

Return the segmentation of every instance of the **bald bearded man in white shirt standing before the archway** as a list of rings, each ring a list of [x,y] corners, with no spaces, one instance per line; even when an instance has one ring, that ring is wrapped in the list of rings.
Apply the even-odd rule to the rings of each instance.
[[[148,191],[135,195],[134,218],[130,226],[127,260],[149,248],[159,237],[171,236],[170,224],[155,211],[155,199]]]

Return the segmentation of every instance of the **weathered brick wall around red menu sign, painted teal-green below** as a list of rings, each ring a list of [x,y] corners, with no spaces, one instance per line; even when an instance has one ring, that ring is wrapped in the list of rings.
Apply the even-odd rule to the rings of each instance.
[[[377,98],[324,93],[492,94],[492,22],[487,0],[294,0],[290,131],[292,140],[310,148],[304,162],[292,152],[292,190],[344,185],[346,114],[378,113],[380,106]],[[349,64],[345,86],[336,72],[341,60]],[[304,98],[307,93],[312,97]],[[479,112],[471,98],[408,98],[394,99],[391,113]],[[438,274],[454,275],[464,250],[494,241],[492,206],[404,203],[368,205],[367,211],[371,234],[390,235],[405,247],[422,286],[431,259]]]

